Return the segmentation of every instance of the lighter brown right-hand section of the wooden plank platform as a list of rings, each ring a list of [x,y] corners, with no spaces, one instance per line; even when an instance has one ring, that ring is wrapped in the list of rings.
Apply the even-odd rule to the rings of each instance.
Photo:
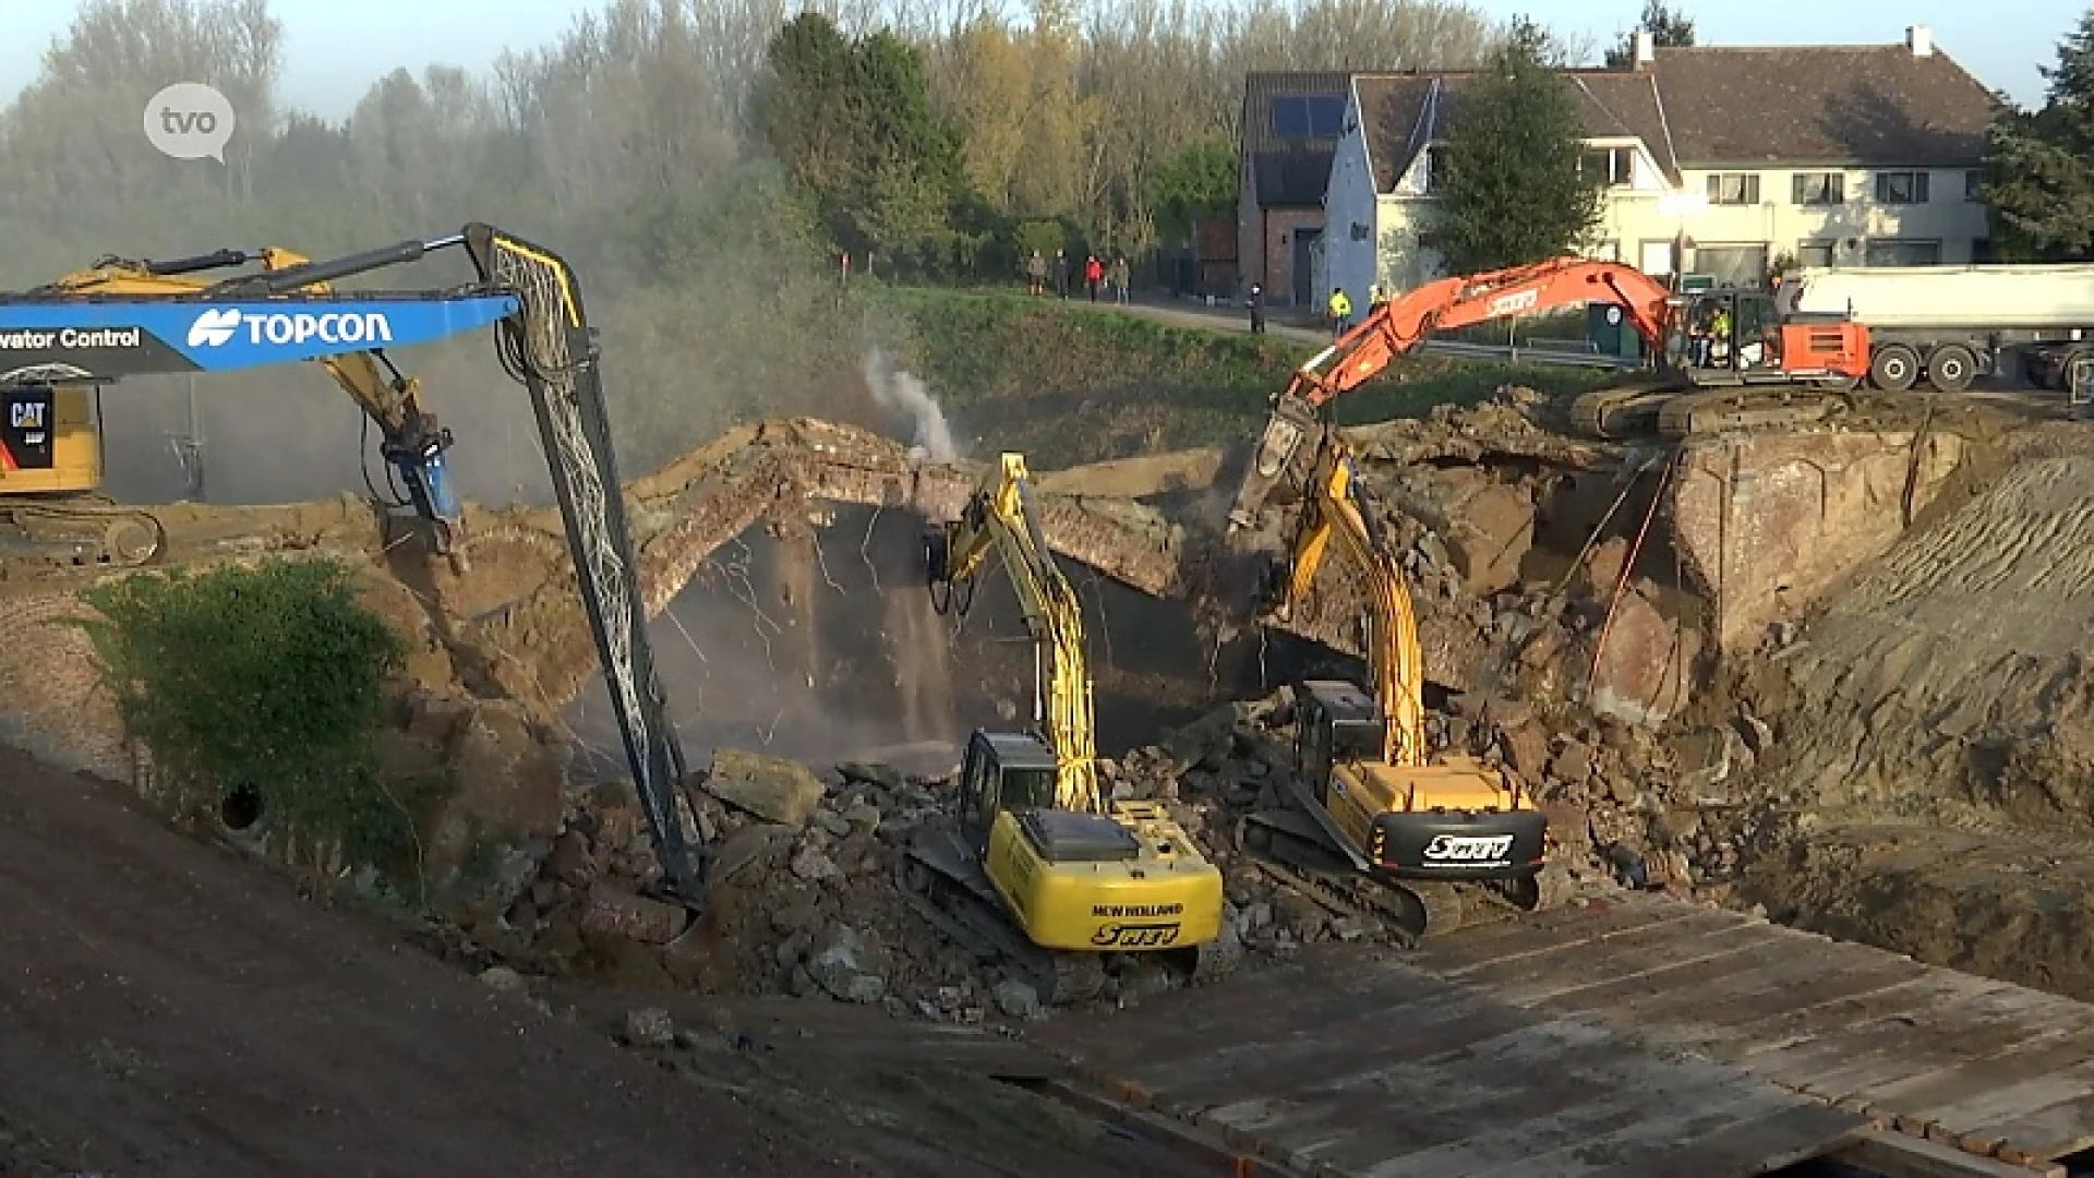
[[[1652,895],[1428,941],[1441,981],[1964,1151],[2094,1147],[2094,1006]]]

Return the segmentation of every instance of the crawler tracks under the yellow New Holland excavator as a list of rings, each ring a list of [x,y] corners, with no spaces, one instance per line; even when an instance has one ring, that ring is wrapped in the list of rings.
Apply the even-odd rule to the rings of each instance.
[[[986,960],[1003,960],[1043,1006],[1089,1002],[1106,989],[1104,954],[1043,950],[1005,916],[974,855],[946,832],[917,841],[896,870],[909,906],[940,933]]]

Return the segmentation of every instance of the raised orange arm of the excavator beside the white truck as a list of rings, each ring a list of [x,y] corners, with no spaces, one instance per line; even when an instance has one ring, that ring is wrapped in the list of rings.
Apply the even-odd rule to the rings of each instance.
[[[1229,507],[1229,530],[1256,526],[1265,499],[1294,463],[1302,438],[1323,432],[1323,409],[1334,398],[1380,375],[1430,333],[1591,302],[1621,306],[1650,352],[1665,352],[1671,289],[1619,262],[1558,258],[1439,279],[1367,312],[1359,327],[1309,356],[1288,388],[1273,396],[1265,434]]]

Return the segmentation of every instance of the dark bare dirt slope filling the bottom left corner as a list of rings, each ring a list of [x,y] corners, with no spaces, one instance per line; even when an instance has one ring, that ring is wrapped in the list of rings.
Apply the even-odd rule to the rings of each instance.
[[[111,1178],[867,1174],[6,748],[0,1027],[0,1126]]]

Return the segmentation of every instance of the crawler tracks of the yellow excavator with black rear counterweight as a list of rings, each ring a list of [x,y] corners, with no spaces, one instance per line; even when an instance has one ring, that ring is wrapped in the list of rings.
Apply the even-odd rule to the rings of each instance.
[[[1353,868],[1296,809],[1244,815],[1235,826],[1235,845],[1305,899],[1334,916],[1374,920],[1403,947],[1547,906],[1537,880],[1455,885],[1369,876]]]

